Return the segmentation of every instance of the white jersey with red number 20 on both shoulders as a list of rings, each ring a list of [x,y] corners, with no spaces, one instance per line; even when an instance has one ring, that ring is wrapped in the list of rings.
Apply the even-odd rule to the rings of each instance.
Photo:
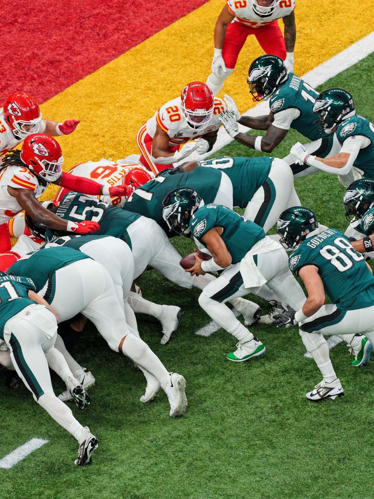
[[[214,111],[212,117],[207,123],[204,123],[196,129],[187,124],[187,119],[183,114],[181,97],[170,100],[160,107],[152,118],[147,121],[147,133],[154,137],[156,125],[166,132],[169,137],[169,147],[185,144],[191,139],[197,139],[205,133],[214,132],[221,126],[218,116],[226,109],[223,100],[214,98]]]

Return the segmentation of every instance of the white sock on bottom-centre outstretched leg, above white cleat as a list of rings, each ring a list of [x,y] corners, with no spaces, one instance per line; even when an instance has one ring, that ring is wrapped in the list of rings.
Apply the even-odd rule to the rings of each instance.
[[[153,374],[160,382],[163,376],[168,374],[161,360],[153,353],[147,343],[133,334],[126,336],[122,344],[122,352],[143,369]]]

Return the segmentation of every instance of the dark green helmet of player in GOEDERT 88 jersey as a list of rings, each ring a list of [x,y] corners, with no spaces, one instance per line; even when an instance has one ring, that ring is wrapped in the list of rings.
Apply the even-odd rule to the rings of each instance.
[[[277,234],[286,248],[295,248],[318,229],[316,214],[309,208],[294,206],[285,210],[277,222]]]

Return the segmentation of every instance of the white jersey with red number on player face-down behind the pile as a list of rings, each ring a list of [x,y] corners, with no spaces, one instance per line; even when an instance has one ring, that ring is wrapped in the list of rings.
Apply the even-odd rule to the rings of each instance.
[[[111,161],[108,159],[101,159],[100,161],[88,161],[87,163],[81,163],[80,165],[73,166],[68,173],[72,175],[77,175],[78,177],[83,177],[86,179],[92,179],[103,186],[113,187],[122,184],[123,177],[134,168],[140,168],[146,171],[151,176],[153,173],[148,171],[146,167],[140,165],[139,163],[133,164],[121,164],[123,160],[119,160],[120,163]],[[67,189],[60,187],[55,196],[55,200],[60,202],[63,196],[68,192]],[[126,197],[117,196],[93,196],[101,201],[105,201],[108,205],[118,206],[121,208],[125,203]]]

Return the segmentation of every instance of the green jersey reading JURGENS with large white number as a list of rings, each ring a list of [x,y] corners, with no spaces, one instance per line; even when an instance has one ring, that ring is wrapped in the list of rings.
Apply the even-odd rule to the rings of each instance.
[[[95,232],[95,236],[113,236],[124,239],[130,248],[131,241],[127,229],[130,224],[141,216],[138,213],[131,213],[116,206],[108,206],[102,201],[76,192],[66,194],[55,213],[58,217],[71,222],[93,220],[100,225],[100,229]],[[60,236],[68,235],[71,235],[71,232],[47,229],[45,240],[49,242]]]

